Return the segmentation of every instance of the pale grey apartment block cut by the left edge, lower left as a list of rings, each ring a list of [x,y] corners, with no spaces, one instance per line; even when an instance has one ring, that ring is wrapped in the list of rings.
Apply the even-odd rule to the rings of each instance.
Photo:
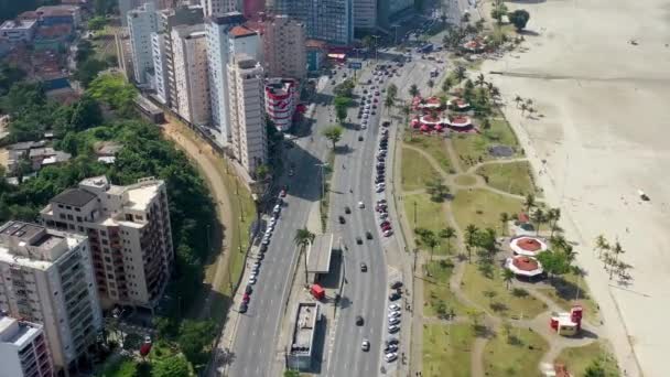
[[[0,226],[0,310],[41,324],[55,369],[76,374],[102,327],[87,238],[22,222]]]

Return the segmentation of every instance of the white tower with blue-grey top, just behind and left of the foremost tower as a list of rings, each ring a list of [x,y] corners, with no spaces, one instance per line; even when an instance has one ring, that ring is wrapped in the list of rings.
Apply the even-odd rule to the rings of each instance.
[[[227,144],[231,140],[228,111],[228,64],[235,53],[246,53],[260,58],[260,36],[241,25],[245,18],[240,12],[215,14],[207,19],[207,62],[209,90],[212,93],[212,126],[217,130],[218,142]]]

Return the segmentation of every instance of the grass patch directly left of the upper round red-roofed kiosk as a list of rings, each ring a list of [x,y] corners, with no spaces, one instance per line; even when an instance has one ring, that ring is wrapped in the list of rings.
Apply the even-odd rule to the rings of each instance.
[[[500,213],[519,213],[521,201],[485,188],[458,190],[452,201],[452,211],[461,229],[468,224],[478,228],[491,227],[501,234]]]

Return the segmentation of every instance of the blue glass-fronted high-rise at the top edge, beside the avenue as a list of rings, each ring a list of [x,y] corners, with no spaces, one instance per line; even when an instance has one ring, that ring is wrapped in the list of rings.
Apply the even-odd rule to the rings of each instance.
[[[354,39],[353,0],[273,0],[268,8],[305,24],[307,37],[348,45]]]

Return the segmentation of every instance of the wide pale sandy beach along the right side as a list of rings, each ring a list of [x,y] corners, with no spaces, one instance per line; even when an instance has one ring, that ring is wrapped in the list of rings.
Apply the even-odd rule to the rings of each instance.
[[[566,238],[579,244],[622,368],[668,376],[670,1],[507,4],[530,12],[527,51],[486,62],[483,72],[507,73],[487,77],[504,94],[547,201],[562,209]],[[516,95],[533,100],[534,119],[521,116]],[[599,234],[620,241],[631,284],[609,281],[593,251]]]

